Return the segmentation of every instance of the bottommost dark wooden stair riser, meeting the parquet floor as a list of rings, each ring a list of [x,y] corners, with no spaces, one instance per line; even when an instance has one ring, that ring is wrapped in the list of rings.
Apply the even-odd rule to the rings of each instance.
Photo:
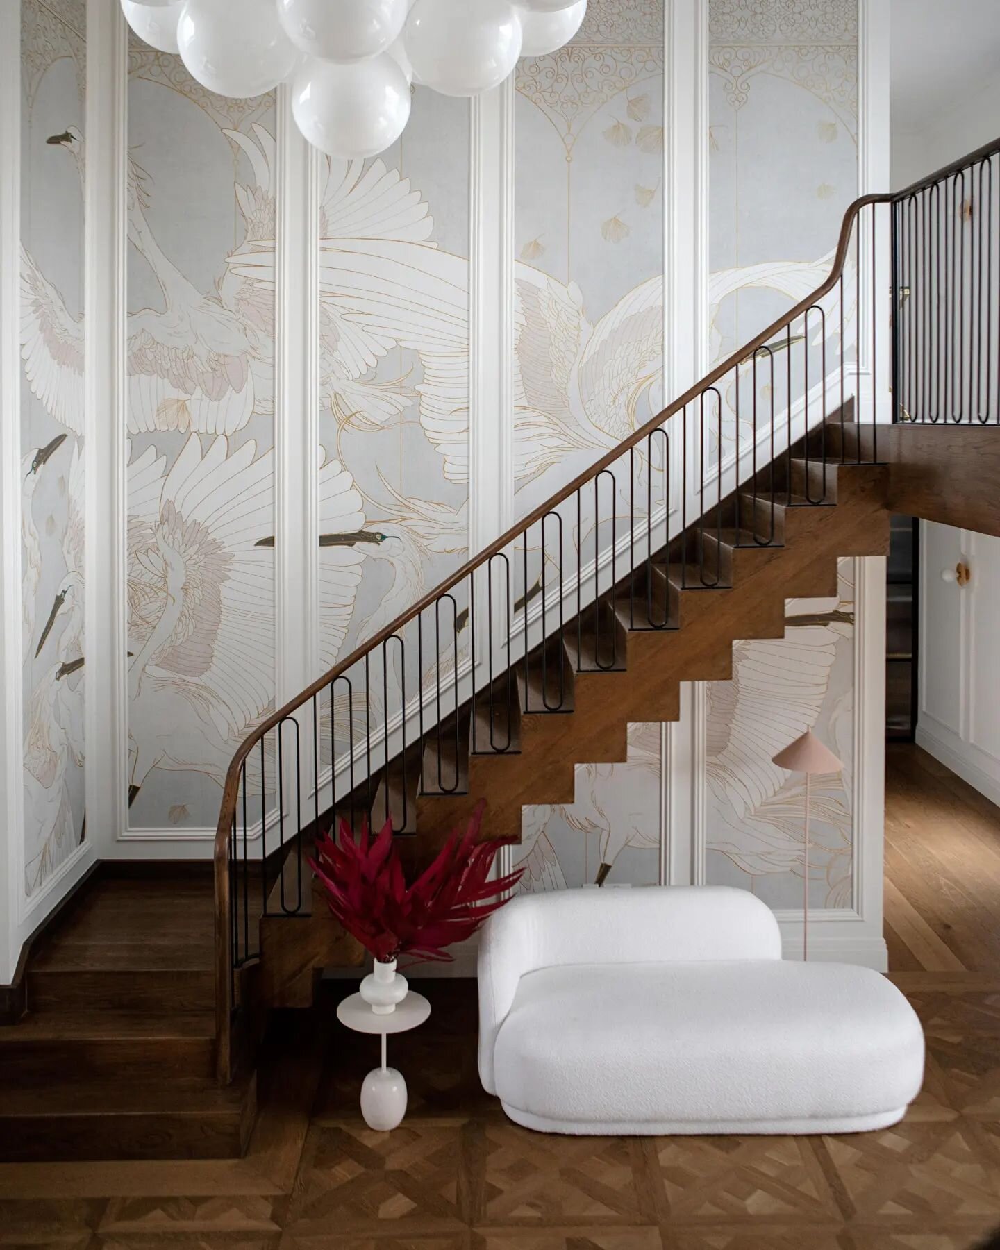
[[[48,1162],[95,1159],[239,1159],[250,1116],[0,1115],[0,1160]]]

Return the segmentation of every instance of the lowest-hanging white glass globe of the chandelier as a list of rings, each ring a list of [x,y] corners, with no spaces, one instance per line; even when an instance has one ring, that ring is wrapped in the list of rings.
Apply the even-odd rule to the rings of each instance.
[[[410,84],[388,52],[369,61],[310,61],[291,88],[295,124],[314,148],[346,160],[376,156],[410,120]]]

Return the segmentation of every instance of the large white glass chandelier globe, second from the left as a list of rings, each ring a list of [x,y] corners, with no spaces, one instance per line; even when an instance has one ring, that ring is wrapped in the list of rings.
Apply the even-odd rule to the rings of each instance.
[[[178,49],[191,78],[238,99],[278,86],[298,55],[274,0],[184,0]]]

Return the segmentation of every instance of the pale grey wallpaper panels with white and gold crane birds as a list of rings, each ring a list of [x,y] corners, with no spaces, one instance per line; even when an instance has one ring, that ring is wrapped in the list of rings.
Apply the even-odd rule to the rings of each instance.
[[[86,45],[84,0],[25,0],[22,9],[31,895],[86,836]],[[828,9],[814,15],[822,29],[789,32],[769,25],[766,6],[754,18],[734,0],[710,5],[704,329],[711,359],[816,286],[854,196],[856,14]],[[515,515],[669,398],[662,50],[660,4],[591,0],[569,45],[522,59],[515,71]],[[795,128],[801,186],[741,172],[755,159],[755,136],[776,118]],[[225,768],[275,704],[276,132],[272,96],[215,96],[178,58],[131,40],[122,466],[129,836],[210,838]],[[415,88],[410,124],[381,156],[319,158],[324,668],[469,555],[470,145],[469,102]],[[769,232],[768,214],[749,202],[761,186],[770,195],[805,186],[816,211],[794,236]],[[724,416],[719,454],[740,436],[731,414]],[[661,469],[648,465],[660,481]],[[578,548],[599,540],[586,521],[572,538]],[[532,558],[540,572],[544,552]],[[742,644],[734,681],[700,695],[706,878],[752,888],[775,906],[800,896],[802,846],[795,782],[770,771],[769,744],[806,728],[825,730],[848,761],[845,778],[818,799],[818,841],[828,849],[815,856],[814,905],[836,906],[850,889],[851,581],[848,561],[838,602],[790,605],[788,639]],[[760,675],[775,670],[788,689],[768,698]],[[750,724],[762,730],[759,741]],[[524,846],[514,850],[520,889],[658,880],[664,758],[660,726],[632,726],[629,762],[585,768],[581,801],[526,810]],[[624,776],[628,785],[614,784]],[[271,801],[266,792],[259,799]]]

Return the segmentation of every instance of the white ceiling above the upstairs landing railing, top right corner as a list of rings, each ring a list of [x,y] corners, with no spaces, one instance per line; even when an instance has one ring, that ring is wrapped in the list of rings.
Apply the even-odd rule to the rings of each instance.
[[[1000,0],[891,2],[892,128],[921,131],[1000,74]]]

